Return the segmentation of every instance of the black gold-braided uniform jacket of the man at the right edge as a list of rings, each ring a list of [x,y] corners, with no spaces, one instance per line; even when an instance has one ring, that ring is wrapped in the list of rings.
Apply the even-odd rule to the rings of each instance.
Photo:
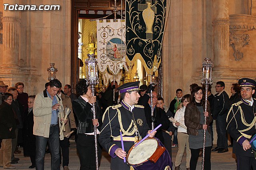
[[[242,143],[249,140],[256,132],[256,100],[253,99],[253,105],[241,98],[240,101],[234,103],[228,112],[227,131],[236,142],[233,144],[233,153],[241,156],[254,157],[252,150],[244,151]]]

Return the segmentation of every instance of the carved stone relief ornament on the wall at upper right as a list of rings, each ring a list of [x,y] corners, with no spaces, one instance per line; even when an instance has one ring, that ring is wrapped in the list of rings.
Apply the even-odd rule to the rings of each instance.
[[[250,44],[250,36],[248,34],[230,34],[229,42],[234,49],[233,55],[236,61],[239,61],[244,57],[241,48],[244,47],[244,45]]]

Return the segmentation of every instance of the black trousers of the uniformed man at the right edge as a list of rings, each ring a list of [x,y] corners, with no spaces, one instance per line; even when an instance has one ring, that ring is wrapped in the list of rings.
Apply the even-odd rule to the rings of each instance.
[[[256,170],[256,160],[254,157],[241,156],[236,154],[237,170]]]

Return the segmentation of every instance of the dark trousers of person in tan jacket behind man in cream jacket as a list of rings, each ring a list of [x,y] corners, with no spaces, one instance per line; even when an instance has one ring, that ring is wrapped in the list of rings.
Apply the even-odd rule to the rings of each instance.
[[[68,138],[64,137],[64,140],[60,140],[60,161],[62,156],[62,167],[68,166],[69,163],[69,142]]]

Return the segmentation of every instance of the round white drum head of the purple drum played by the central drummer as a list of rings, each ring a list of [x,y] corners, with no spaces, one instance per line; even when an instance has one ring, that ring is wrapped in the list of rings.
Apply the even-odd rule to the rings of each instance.
[[[158,142],[155,139],[147,139],[131,150],[127,160],[129,164],[136,165],[145,162],[154,154]]]

